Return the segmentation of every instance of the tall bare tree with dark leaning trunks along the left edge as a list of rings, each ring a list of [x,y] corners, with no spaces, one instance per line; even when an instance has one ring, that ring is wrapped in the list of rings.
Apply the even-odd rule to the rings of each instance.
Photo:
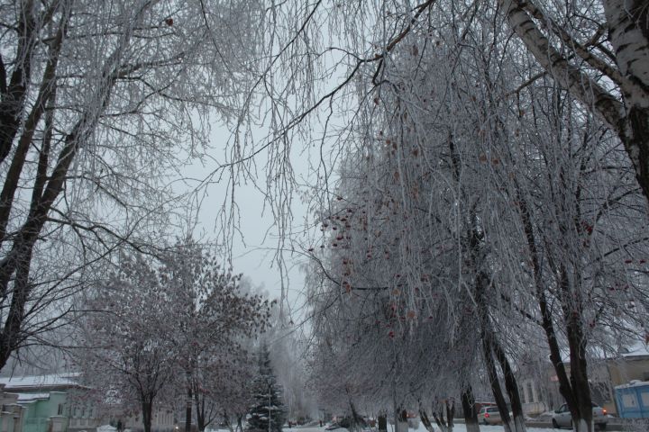
[[[3,2],[0,14],[3,366],[69,316],[41,320],[87,266],[175,223],[169,183],[204,154],[208,112],[242,119],[236,72],[254,66],[260,14],[144,0]]]

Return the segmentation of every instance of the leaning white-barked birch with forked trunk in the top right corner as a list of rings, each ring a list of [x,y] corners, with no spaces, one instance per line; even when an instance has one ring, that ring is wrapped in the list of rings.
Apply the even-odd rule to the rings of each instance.
[[[507,23],[553,79],[617,133],[649,199],[649,19],[640,0],[501,1]]]

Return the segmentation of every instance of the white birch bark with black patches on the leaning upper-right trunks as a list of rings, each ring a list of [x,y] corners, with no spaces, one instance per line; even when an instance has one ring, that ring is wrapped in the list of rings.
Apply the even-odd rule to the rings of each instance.
[[[552,46],[527,11],[536,19],[547,21],[534,2],[499,0],[507,21],[536,61],[548,71],[562,88],[584,103],[608,123],[625,145],[635,168],[638,183],[649,199],[649,23],[647,8],[642,0],[603,0],[610,40],[615,49],[618,70],[586,52],[577,40],[562,29],[554,32],[573,48],[576,57],[607,74],[620,86],[619,98],[599,85],[580,67]],[[556,27],[556,26],[554,26]]]

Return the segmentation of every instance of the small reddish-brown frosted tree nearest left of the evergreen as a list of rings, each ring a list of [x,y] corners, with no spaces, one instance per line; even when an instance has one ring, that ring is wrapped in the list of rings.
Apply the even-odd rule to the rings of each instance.
[[[203,379],[209,377],[208,371],[214,373],[215,368],[236,362],[233,353],[238,353],[245,364],[247,355],[240,340],[253,338],[268,326],[274,302],[259,294],[241,293],[242,275],[224,271],[206,246],[191,239],[174,247],[164,263],[163,275],[172,285],[173,303],[178,309],[174,340],[179,348],[178,364],[186,377],[185,428],[191,430],[192,405],[196,401],[197,425],[202,431],[207,426],[207,383]],[[215,376],[227,379],[224,374]]]

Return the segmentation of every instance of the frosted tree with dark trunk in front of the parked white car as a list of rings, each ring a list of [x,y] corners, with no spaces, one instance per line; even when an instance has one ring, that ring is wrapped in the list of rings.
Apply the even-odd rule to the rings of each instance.
[[[543,136],[540,130],[536,130],[534,139],[528,137],[535,142],[540,158],[529,158],[526,162],[521,159],[532,164],[543,160],[543,167],[539,166],[542,171],[536,171],[541,175],[535,175],[535,186],[516,185],[515,190],[521,192],[516,196],[522,197],[517,203],[526,233],[526,254],[529,254],[530,275],[533,275],[550,356],[557,376],[562,376],[560,389],[571,406],[575,428],[586,430],[590,427],[578,423],[580,419],[590,423],[591,419],[589,346],[605,344],[613,334],[626,338],[622,335],[628,332],[642,333],[645,327],[637,320],[641,315],[635,311],[627,316],[628,303],[622,300],[626,295],[637,294],[633,308],[646,307],[645,300],[640,300],[645,297],[644,290],[629,291],[630,287],[621,283],[628,278],[642,278],[634,266],[625,268],[639,261],[618,253],[619,245],[625,245],[622,250],[644,256],[647,245],[642,233],[631,233],[617,226],[621,220],[626,220],[626,226],[633,226],[637,220],[644,219],[645,211],[638,189],[629,181],[630,166],[626,157],[620,157],[622,148],[615,139],[598,130],[594,119],[582,122],[583,113],[570,98],[564,99],[561,93],[554,97],[553,108],[544,112],[549,112],[553,119],[560,115],[562,121],[546,125],[552,132],[546,137],[550,140],[544,139],[543,144],[538,140]],[[535,103],[540,101],[536,99]],[[562,141],[560,150],[558,141]],[[574,148],[570,157],[563,154],[566,147]],[[562,156],[558,157],[556,151]],[[541,184],[544,186],[539,187]],[[526,193],[533,193],[535,198],[525,198]],[[557,236],[557,233],[562,234]],[[626,286],[622,297],[617,293],[621,284]],[[561,311],[556,311],[556,305],[561,306]],[[615,315],[626,324],[616,324]],[[557,333],[562,333],[565,339]],[[642,337],[638,334],[636,338]],[[570,353],[566,362],[570,365],[570,378],[563,366],[562,349],[565,348],[561,344]]]

